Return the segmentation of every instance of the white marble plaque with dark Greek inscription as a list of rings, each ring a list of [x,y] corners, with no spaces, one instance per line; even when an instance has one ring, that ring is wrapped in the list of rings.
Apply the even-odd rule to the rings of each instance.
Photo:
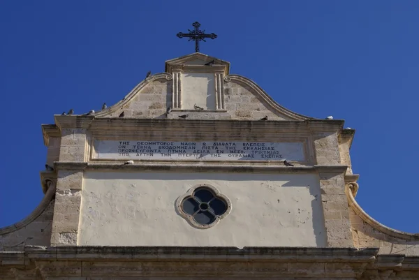
[[[95,140],[94,159],[304,161],[302,142]]]

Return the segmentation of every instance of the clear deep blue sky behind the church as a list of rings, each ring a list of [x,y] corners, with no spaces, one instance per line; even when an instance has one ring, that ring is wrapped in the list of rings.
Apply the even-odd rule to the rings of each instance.
[[[193,52],[179,31],[218,34],[201,52],[278,103],[356,129],[357,200],[419,232],[419,1],[1,1],[0,226],[41,201],[41,124],[112,105],[147,71]]]

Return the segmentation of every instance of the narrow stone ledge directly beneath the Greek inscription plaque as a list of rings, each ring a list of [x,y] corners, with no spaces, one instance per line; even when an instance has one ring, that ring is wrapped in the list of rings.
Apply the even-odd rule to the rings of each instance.
[[[276,173],[307,173],[314,172],[312,166],[294,166],[288,167],[282,163],[208,163],[202,161],[187,161],[183,163],[177,162],[153,162],[153,161],[138,161],[134,164],[126,165],[124,161],[98,161],[87,163],[87,170],[154,170],[154,171],[217,171],[217,172],[276,172]]]

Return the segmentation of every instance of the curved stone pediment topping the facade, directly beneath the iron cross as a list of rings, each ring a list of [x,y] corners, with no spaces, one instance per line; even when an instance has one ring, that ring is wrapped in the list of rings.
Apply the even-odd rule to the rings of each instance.
[[[201,53],[168,60],[166,73],[146,78],[95,117],[124,112],[125,118],[140,119],[311,119],[282,107],[258,84],[229,71],[229,62]]]

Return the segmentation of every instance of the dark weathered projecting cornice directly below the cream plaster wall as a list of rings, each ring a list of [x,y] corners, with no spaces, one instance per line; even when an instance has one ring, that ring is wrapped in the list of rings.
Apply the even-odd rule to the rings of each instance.
[[[378,248],[316,247],[186,247],[186,246],[58,246],[34,248],[25,246],[33,260],[199,260],[266,261],[316,263],[374,263]],[[203,257],[201,257],[203,256]]]

